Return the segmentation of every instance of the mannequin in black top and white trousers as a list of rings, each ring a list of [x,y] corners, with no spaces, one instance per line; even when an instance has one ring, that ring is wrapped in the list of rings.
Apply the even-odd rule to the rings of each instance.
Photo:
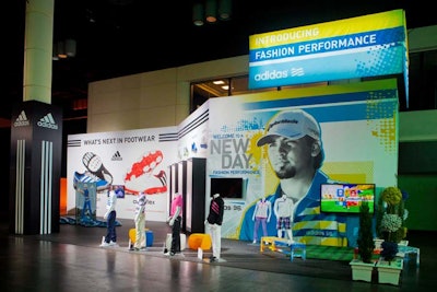
[[[210,213],[204,222],[206,233],[212,241],[212,256],[210,261],[218,261],[222,249],[222,222],[225,203],[220,194],[214,194],[210,203]]]

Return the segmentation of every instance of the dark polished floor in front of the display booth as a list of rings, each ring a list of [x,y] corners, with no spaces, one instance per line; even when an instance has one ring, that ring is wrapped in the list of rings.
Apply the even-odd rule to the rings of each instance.
[[[280,253],[259,253],[250,243],[223,240],[223,261],[210,264],[197,252],[168,258],[163,245],[168,227],[146,222],[153,246],[130,252],[133,220],[117,227],[119,247],[102,248],[104,227],[61,224],[50,235],[13,235],[0,225],[1,291],[430,291],[436,247],[432,232],[410,232],[411,246],[421,248],[421,264],[404,265],[399,287],[352,281],[347,262],[296,259]],[[203,258],[208,258],[205,252]],[[376,276],[376,275],[374,275]],[[374,277],[375,278],[375,277]]]

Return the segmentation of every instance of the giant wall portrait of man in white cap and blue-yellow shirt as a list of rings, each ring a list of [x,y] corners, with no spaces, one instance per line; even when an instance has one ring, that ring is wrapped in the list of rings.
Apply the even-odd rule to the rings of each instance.
[[[345,246],[346,217],[320,212],[320,184],[334,183],[320,167],[324,153],[317,120],[302,109],[279,112],[265,127],[258,147],[267,147],[271,168],[280,179],[275,194],[267,199],[272,206],[286,196],[293,200],[293,240],[306,244]],[[245,213],[240,240],[252,241],[255,205]],[[269,236],[277,234],[277,218],[268,224]]]

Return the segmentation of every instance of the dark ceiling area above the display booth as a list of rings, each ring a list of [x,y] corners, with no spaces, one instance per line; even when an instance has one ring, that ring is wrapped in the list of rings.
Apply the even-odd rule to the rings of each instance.
[[[4,3],[7,106],[10,119],[23,98],[24,24],[26,2]],[[87,84],[115,77],[179,67],[248,54],[249,35],[404,9],[408,28],[437,24],[428,1],[233,1],[232,20],[201,27],[191,22],[194,0],[55,0],[54,40],[74,38],[76,56],[54,61],[51,103],[66,118],[86,117],[71,110],[87,98]],[[8,19],[8,20],[5,20]],[[5,47],[5,48],[4,48]]]

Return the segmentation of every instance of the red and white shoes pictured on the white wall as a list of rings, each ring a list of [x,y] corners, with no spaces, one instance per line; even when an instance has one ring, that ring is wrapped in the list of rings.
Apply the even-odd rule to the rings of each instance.
[[[167,174],[160,171],[153,174],[154,168],[163,161],[163,153],[157,150],[149,152],[141,161],[133,163],[126,174],[125,189],[131,194],[145,192],[147,195],[167,191]],[[161,182],[157,183],[157,182]]]

